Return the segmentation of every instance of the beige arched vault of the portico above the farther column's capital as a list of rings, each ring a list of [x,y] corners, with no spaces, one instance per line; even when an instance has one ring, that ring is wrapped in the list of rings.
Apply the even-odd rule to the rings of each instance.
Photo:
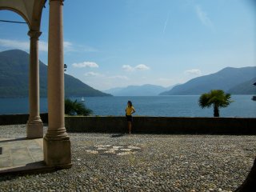
[[[12,10],[25,19],[30,30],[40,30],[45,2],[46,0],[0,0],[0,10]]]

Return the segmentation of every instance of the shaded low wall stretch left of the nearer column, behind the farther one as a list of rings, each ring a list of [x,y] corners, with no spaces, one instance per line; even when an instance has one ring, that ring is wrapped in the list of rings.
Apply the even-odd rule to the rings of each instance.
[[[26,124],[29,114],[2,114],[0,115],[0,126]],[[48,123],[48,114],[40,114],[43,123]]]

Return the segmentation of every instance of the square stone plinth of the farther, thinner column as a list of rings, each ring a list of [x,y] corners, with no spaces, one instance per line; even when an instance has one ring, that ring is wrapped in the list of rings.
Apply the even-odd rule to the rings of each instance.
[[[26,123],[26,138],[43,138],[43,124],[41,118]]]

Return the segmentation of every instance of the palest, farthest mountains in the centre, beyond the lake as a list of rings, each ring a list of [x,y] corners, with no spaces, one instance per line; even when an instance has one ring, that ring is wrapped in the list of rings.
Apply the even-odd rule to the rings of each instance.
[[[142,86],[126,86],[117,87],[110,90],[105,90],[108,94],[113,94],[114,96],[156,96],[162,91],[170,90],[171,87],[154,86],[150,84]]]

